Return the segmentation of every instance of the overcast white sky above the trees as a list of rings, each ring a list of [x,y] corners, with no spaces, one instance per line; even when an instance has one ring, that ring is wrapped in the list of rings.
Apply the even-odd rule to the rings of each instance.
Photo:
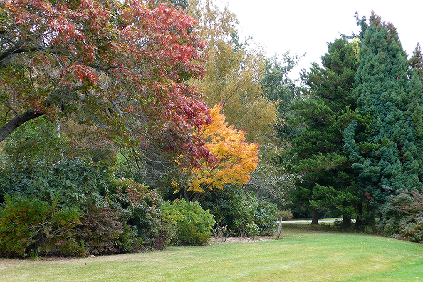
[[[422,8],[419,0],[372,1],[372,0],[328,0],[328,1],[272,1],[272,0],[216,0],[237,14],[241,37],[253,36],[253,41],[265,47],[267,55],[307,54],[292,77],[299,77],[300,69],[310,63],[320,63],[320,56],[327,52],[327,42],[340,33],[358,33],[354,19],[357,11],[369,17],[373,9],[385,22],[397,28],[402,46],[411,55],[417,42],[423,44]]]

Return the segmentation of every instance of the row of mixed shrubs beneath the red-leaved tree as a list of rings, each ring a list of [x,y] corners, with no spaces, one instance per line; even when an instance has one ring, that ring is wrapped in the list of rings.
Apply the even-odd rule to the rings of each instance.
[[[60,181],[58,180],[60,178]],[[209,241],[198,202],[166,202],[145,185],[74,160],[0,170],[0,256],[118,254]],[[63,185],[60,185],[63,183]]]

